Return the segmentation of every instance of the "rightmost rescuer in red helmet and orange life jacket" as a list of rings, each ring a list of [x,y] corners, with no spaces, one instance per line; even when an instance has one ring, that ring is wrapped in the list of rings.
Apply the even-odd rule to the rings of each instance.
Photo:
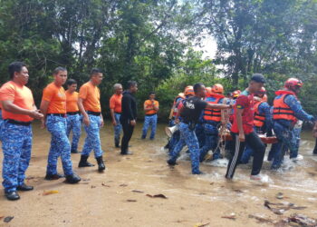
[[[297,120],[313,122],[315,118],[303,111],[301,103],[297,99],[303,83],[296,78],[288,79],[284,84],[284,89],[275,92],[277,95],[274,99],[273,109],[273,128],[278,139],[274,144],[272,153],[273,158],[271,169],[278,169],[283,163],[283,155],[287,147],[290,150],[290,158],[296,159],[296,137],[293,133],[293,126]]]

